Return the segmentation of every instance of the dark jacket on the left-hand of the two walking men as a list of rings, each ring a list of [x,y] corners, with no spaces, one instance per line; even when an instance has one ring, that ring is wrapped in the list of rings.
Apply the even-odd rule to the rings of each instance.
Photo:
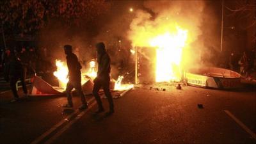
[[[68,76],[70,80],[81,79],[81,64],[79,63],[76,54],[70,53],[67,55]],[[80,80],[81,81],[81,80]]]

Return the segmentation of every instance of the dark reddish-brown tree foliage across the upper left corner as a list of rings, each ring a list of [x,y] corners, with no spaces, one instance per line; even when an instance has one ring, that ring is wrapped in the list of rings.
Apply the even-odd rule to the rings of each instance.
[[[0,20],[12,33],[35,33],[51,20],[81,26],[109,9],[105,0],[1,0]]]

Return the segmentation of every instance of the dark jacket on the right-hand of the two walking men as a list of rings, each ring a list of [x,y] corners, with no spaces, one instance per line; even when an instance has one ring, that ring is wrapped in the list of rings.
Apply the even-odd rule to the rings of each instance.
[[[104,77],[109,77],[110,74],[110,58],[107,52],[104,52],[101,54],[98,58],[98,72],[97,72],[97,77],[98,78],[104,78]]]

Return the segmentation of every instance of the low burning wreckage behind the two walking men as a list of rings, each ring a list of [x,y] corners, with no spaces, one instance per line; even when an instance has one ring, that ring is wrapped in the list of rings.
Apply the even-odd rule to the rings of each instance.
[[[44,79],[33,76],[31,78],[31,83],[33,83],[33,89],[31,95],[63,95],[65,93],[65,88],[68,83],[68,68],[63,61],[56,60],[57,70],[54,72],[54,76],[58,78],[59,86],[52,86],[51,84],[44,81]],[[82,89],[86,94],[91,94],[93,90],[93,79],[97,76],[95,72],[95,61],[90,61],[90,68],[87,72],[82,75]],[[122,84],[123,76],[118,76],[118,79],[112,79],[110,84],[110,89],[112,91],[122,92],[125,90],[131,90],[133,84]],[[122,96],[116,95],[117,97]]]

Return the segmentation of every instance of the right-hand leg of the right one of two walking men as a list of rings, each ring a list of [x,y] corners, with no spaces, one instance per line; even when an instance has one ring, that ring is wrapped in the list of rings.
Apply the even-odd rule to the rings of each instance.
[[[113,97],[111,95],[111,92],[109,90],[109,79],[104,80],[104,83],[102,83],[102,87],[104,90],[104,93],[108,99],[108,103],[109,103],[109,112],[113,113],[114,112],[114,102],[113,102]]]

